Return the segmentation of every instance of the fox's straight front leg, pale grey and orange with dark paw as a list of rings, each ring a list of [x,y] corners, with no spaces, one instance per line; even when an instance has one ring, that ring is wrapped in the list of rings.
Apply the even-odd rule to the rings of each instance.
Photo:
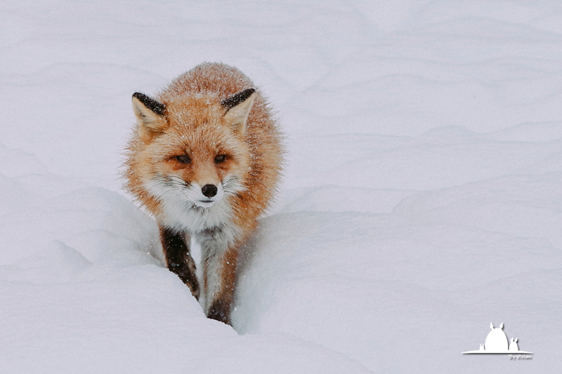
[[[232,239],[229,241],[228,234],[221,229],[205,230],[199,239],[204,266],[204,310],[208,318],[230,325],[238,257],[237,243],[231,243]]]

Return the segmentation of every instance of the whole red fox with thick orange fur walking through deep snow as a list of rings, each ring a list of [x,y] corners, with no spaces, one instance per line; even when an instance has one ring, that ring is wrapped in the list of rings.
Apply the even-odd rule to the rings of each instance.
[[[240,70],[204,63],[155,98],[134,93],[133,111],[126,189],[156,218],[170,271],[207,317],[230,324],[238,251],[270,205],[283,164],[270,106]]]

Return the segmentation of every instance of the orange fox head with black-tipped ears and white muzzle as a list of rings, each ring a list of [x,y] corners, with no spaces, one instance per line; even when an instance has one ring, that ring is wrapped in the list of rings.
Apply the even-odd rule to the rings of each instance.
[[[249,173],[247,120],[254,88],[155,100],[133,94],[140,182],[157,201],[207,209],[244,189]]]

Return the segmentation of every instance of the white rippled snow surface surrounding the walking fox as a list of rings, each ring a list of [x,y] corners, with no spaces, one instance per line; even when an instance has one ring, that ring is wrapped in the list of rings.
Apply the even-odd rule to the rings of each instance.
[[[0,3],[0,373],[554,373],[559,1]],[[120,188],[131,94],[242,69],[287,134],[234,329]],[[532,359],[462,355],[490,322]]]

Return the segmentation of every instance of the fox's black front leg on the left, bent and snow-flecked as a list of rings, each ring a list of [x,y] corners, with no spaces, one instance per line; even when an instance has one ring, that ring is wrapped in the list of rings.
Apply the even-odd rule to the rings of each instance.
[[[162,226],[160,227],[160,240],[168,269],[177,274],[189,287],[193,296],[199,300],[200,288],[199,282],[197,282],[195,261],[189,253],[188,243],[185,243],[181,234]]]

